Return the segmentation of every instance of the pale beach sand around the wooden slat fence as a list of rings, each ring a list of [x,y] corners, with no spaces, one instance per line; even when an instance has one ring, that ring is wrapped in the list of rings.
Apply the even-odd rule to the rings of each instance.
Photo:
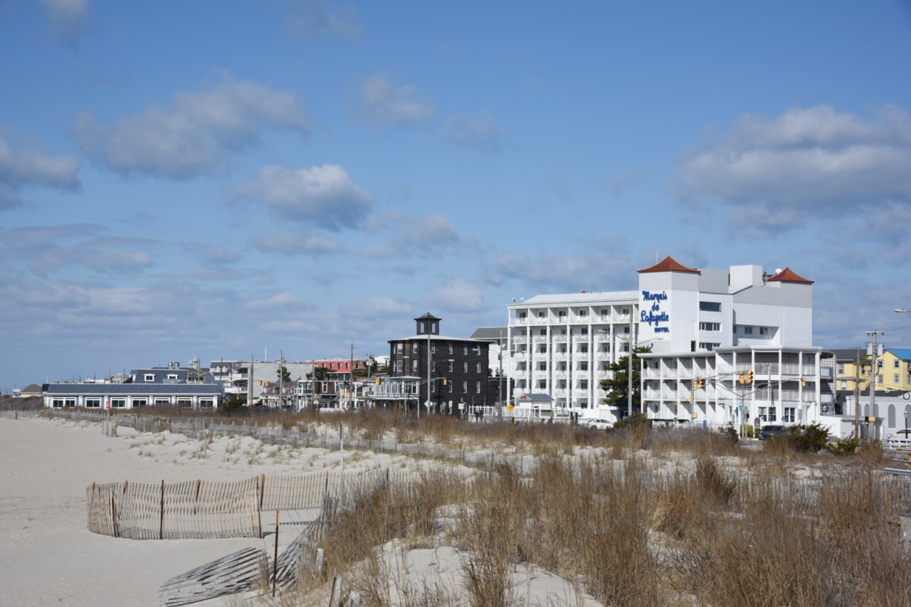
[[[250,437],[200,441],[128,427],[119,427],[118,437],[106,437],[98,424],[60,419],[0,419],[0,458],[0,605],[99,607],[157,605],[159,587],[170,578],[245,547],[271,554],[274,536],[124,540],[97,535],[86,529],[86,488],[93,482],[237,481],[263,473],[338,469],[342,463],[337,449],[279,448]],[[426,465],[405,456],[363,452],[346,452],[344,464],[346,471]],[[280,544],[292,537],[280,533]],[[414,563],[408,575],[422,578],[409,582],[415,586],[437,583],[428,576],[440,573],[445,583],[459,583],[454,550],[415,551],[408,560]],[[515,577],[526,604],[599,605],[589,597],[577,600],[567,582],[547,572],[522,569]]]

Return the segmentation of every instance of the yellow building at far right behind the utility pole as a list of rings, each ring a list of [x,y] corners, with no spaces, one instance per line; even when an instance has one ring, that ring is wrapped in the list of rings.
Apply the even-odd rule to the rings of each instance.
[[[854,392],[860,381],[861,392],[870,387],[870,357],[866,348],[859,351],[834,350],[835,389],[838,392]],[[858,361],[858,352],[859,361]],[[887,348],[876,356],[876,391],[911,391],[911,349]]]

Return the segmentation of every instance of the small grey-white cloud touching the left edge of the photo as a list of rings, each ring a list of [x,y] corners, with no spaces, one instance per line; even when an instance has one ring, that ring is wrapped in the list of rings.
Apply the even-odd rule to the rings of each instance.
[[[0,209],[22,201],[26,188],[76,191],[79,161],[72,156],[45,156],[26,151],[15,153],[0,139]]]

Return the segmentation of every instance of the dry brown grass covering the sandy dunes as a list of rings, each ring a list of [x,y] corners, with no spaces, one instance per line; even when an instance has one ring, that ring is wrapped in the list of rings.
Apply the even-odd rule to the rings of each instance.
[[[532,565],[616,607],[892,607],[911,597],[911,550],[899,525],[911,505],[905,479],[883,474],[881,448],[836,458],[795,454],[775,440],[742,449],[730,434],[702,428],[418,422],[382,410],[322,417],[364,437],[395,433],[535,457],[524,471],[504,465],[472,482],[436,466],[410,486],[356,495],[322,540],[332,573],[307,581],[301,596],[337,573],[364,606],[512,607],[522,602],[510,575]],[[587,455],[570,455],[574,448]],[[403,551],[455,546],[464,587],[400,577],[378,556],[390,542]]]

